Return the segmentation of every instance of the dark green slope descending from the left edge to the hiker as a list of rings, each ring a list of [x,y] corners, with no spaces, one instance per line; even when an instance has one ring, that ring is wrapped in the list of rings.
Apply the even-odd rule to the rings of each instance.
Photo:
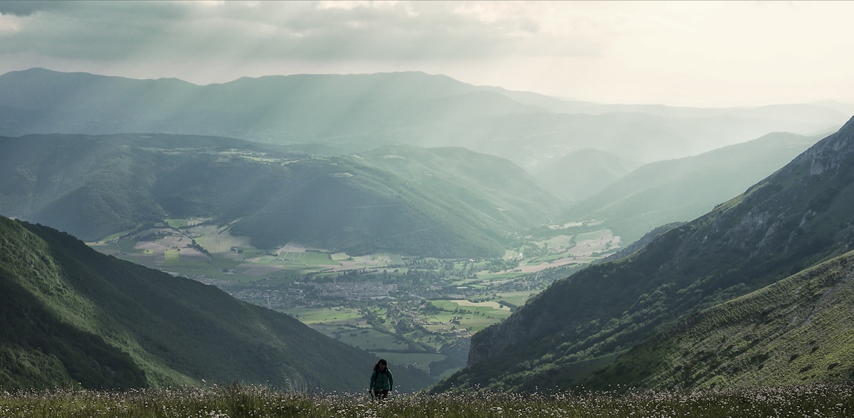
[[[104,256],[48,227],[0,218],[0,246],[7,389],[238,380],[358,391],[376,362],[287,315]],[[407,388],[428,381],[399,374]]]

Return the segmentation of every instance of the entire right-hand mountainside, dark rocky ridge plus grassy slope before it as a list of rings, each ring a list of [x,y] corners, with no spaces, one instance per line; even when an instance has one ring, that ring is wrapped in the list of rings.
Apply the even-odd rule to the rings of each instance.
[[[615,369],[598,374],[601,380],[589,381],[691,387],[851,380],[851,262],[834,260],[854,250],[851,207],[854,119],[708,214],[630,256],[554,282],[475,334],[468,366],[438,389],[571,387],[635,346]],[[664,337],[639,345],[652,335]]]

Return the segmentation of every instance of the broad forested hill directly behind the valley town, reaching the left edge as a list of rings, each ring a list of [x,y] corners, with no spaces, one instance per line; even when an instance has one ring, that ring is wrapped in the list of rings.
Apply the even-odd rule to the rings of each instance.
[[[0,138],[0,213],[86,240],[167,216],[202,217],[231,224],[259,248],[501,256],[509,233],[559,211],[506,160],[464,149],[407,152],[430,156],[419,165],[429,178],[383,158],[316,157],[230,138]]]

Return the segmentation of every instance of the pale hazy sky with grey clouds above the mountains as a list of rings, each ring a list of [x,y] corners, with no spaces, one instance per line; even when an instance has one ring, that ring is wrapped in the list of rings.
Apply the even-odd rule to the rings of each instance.
[[[0,74],[417,70],[607,103],[854,103],[854,2],[0,2]]]

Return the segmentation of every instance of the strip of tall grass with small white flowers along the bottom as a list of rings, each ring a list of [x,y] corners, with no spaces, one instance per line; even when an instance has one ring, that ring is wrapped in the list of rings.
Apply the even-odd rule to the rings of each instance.
[[[854,386],[811,385],[693,392],[295,394],[261,386],[129,392],[56,389],[0,393],[3,417],[851,417]]]

